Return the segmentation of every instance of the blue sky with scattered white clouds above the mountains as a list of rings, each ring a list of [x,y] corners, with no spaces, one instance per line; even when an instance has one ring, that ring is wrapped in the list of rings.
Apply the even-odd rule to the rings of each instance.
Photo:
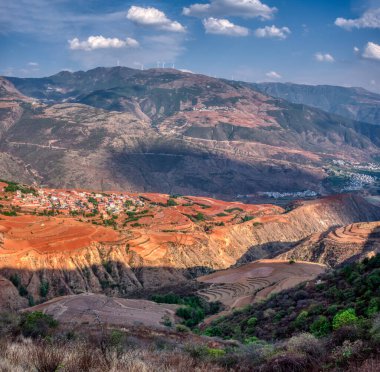
[[[0,75],[117,65],[380,93],[380,0],[0,0]]]

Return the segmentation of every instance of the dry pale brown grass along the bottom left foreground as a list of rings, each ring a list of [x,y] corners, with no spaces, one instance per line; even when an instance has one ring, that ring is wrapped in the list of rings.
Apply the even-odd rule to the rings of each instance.
[[[1,372],[151,372],[215,371],[224,369],[186,355],[181,350],[102,351],[85,342],[49,343],[28,339],[1,342]]]

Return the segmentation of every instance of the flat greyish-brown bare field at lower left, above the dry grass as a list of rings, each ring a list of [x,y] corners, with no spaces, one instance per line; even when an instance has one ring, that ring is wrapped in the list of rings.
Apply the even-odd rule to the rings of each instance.
[[[56,297],[25,311],[42,311],[66,324],[107,324],[119,327],[144,325],[165,328],[165,320],[175,323],[176,308],[177,305],[86,293]]]

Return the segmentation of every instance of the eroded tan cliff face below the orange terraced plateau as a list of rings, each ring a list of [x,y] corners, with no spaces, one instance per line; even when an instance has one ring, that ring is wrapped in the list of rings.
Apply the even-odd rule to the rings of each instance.
[[[41,223],[40,217],[34,218],[36,224]],[[20,286],[34,300],[86,291],[124,295],[181,283],[212,269],[273,255],[290,243],[294,245],[332,226],[376,219],[380,219],[379,208],[364,199],[343,195],[304,202],[285,214],[264,215],[210,233],[190,229],[181,235],[182,239],[169,240],[157,247],[154,241],[158,238],[153,233],[149,236],[142,231],[139,237],[123,233],[119,236],[106,228],[86,230],[88,224],[76,222],[70,228],[83,231],[79,243],[72,230],[68,230],[70,234],[65,234],[70,236],[70,243],[50,242],[49,249],[44,250],[38,246],[25,246],[15,252],[3,249],[0,274],[7,279],[17,275]],[[49,221],[54,225],[54,219]],[[3,232],[3,238],[9,246],[11,234]],[[313,260],[312,254],[305,254],[302,259],[309,258]]]

